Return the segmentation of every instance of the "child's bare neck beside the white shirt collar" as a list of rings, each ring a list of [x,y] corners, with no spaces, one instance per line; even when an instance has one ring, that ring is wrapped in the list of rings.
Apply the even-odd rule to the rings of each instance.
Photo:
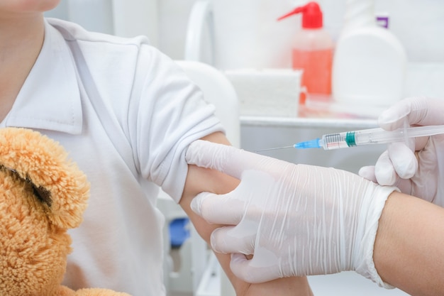
[[[0,121],[11,110],[43,45],[43,19],[0,23]],[[49,65],[48,65],[49,66]]]

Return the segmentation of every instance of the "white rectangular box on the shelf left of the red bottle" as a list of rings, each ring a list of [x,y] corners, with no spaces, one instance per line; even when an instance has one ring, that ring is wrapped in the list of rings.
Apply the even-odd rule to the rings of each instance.
[[[302,70],[226,70],[240,102],[240,115],[287,116],[298,114]]]

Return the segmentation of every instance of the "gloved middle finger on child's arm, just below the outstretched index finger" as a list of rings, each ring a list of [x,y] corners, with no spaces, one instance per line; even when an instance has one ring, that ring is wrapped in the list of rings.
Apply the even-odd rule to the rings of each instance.
[[[242,219],[244,204],[229,194],[202,192],[191,203],[193,212],[211,224],[235,225]]]

